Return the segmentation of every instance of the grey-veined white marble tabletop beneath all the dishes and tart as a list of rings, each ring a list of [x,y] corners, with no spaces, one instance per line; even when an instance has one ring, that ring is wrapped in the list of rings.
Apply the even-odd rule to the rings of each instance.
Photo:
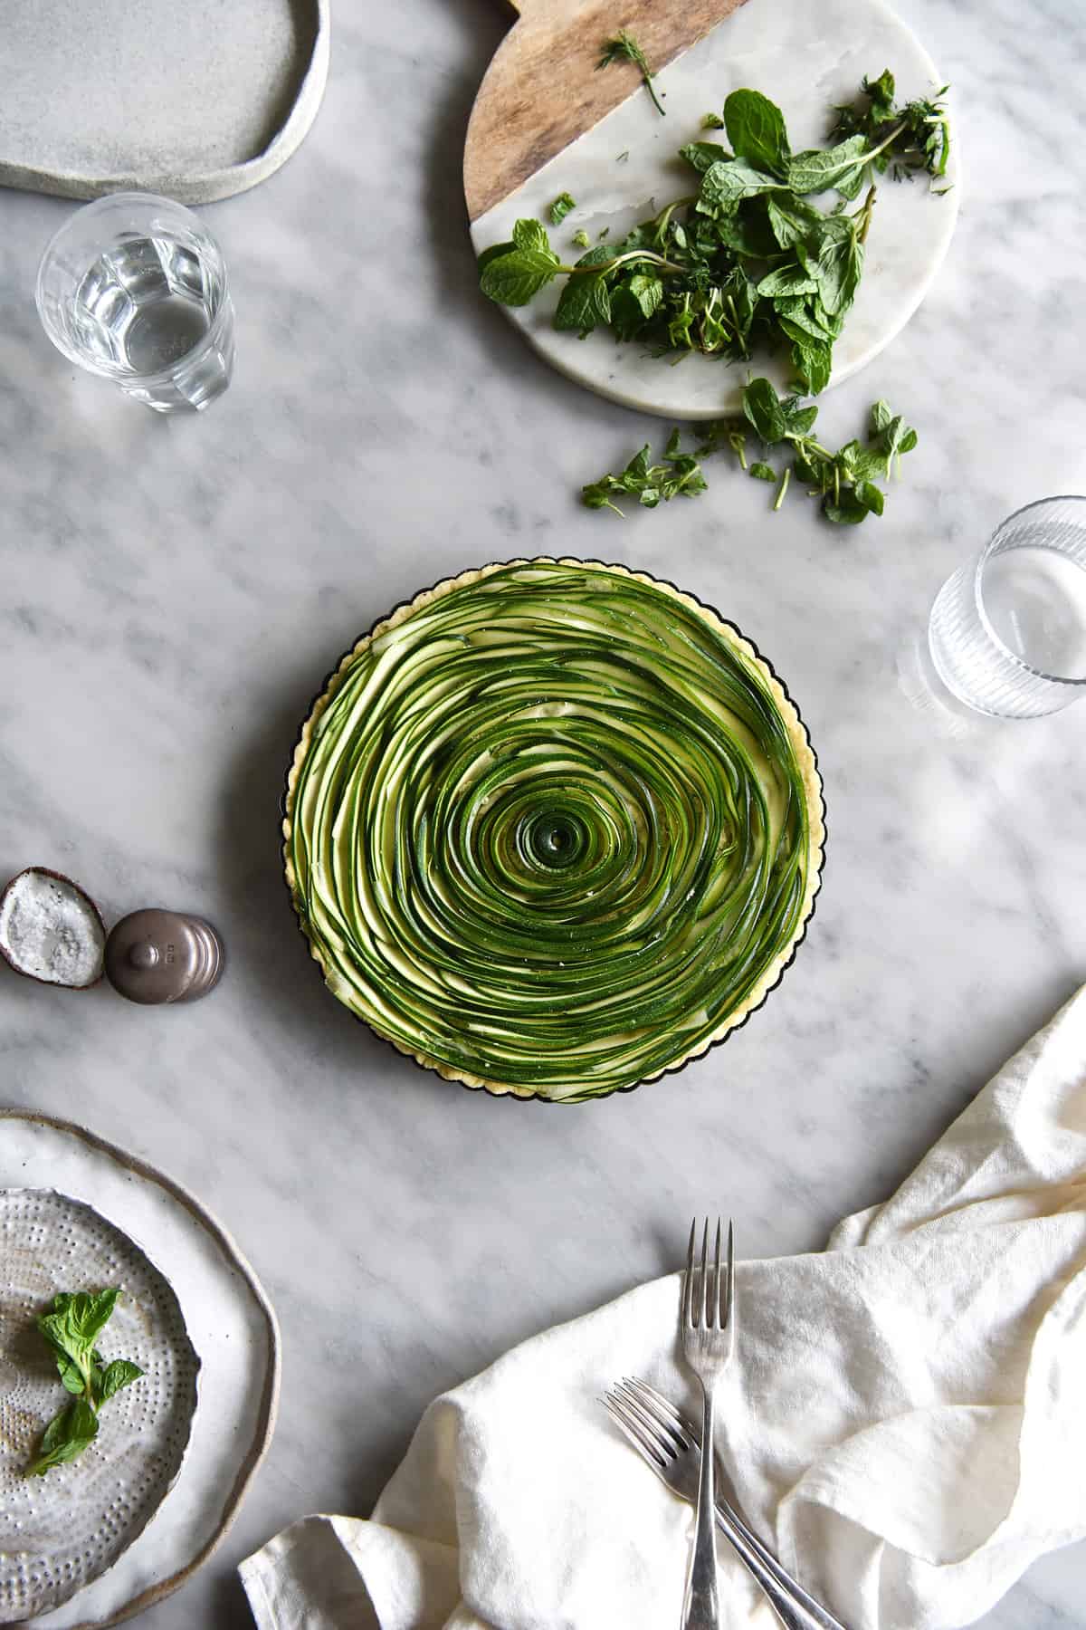
[[[824,406],[840,440],[878,394],[920,427],[855,533],[799,500],[770,515],[723,461],[685,507],[576,505],[659,427],[549,373],[474,290],[458,165],[501,28],[487,0],[340,8],[311,137],[207,210],[239,360],[200,419],[49,349],[33,277],[70,205],[0,194],[0,872],[55,866],[111,918],[202,911],[231,957],[173,1011],[5,973],[0,1097],[194,1187],[285,1335],[270,1459],[148,1630],[247,1623],[243,1555],[306,1511],[366,1513],[436,1392],[676,1265],[692,1211],[734,1211],[752,1255],[817,1249],[1086,976],[1086,706],[954,734],[899,673],[1001,515],[1086,491],[1086,18],[902,8],[957,88],[966,196],[918,316]],[[759,641],[830,826],[767,1009],[682,1076],[568,1110],[462,1092],[370,1038],[309,967],[277,861],[295,727],[353,636],[446,572],[558,551],[674,577]],[[1049,1558],[985,1625],[1086,1625],[1084,1563]]]

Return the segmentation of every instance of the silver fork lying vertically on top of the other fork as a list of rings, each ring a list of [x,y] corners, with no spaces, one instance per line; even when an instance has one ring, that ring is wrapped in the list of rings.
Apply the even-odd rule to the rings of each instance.
[[[720,1265],[720,1218],[716,1219],[716,1252],[713,1267],[708,1265],[708,1218],[702,1231],[702,1265],[695,1275],[694,1268],[694,1236],[697,1221],[690,1224],[690,1249],[687,1250],[687,1271],[682,1284],[682,1314],[679,1328],[682,1332],[682,1351],[685,1361],[702,1382],[705,1399],[705,1416],[702,1423],[702,1443],[710,1446],[710,1452],[702,1456],[702,1467],[697,1490],[697,1526],[694,1532],[694,1553],[687,1571],[685,1601],[682,1604],[682,1630],[720,1630],[720,1604],[716,1601],[716,1490],[713,1474],[716,1457],[713,1444],[713,1389],[721,1371],[731,1361],[736,1350],[736,1253],[731,1222],[728,1224],[728,1278],[721,1276]]]

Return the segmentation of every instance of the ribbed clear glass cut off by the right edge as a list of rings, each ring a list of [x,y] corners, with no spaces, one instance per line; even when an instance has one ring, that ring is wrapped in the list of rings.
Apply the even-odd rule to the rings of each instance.
[[[1009,515],[931,606],[928,647],[954,696],[1036,719],[1086,696],[1086,497]]]

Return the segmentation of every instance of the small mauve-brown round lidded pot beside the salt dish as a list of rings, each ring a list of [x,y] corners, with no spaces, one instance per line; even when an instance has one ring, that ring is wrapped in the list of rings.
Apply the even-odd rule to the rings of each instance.
[[[204,918],[132,911],[106,941],[106,978],[130,1002],[192,1002],[223,971],[223,942]]]

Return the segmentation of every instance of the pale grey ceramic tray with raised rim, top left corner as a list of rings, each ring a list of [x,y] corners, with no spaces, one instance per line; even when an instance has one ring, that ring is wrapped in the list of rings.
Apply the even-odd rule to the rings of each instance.
[[[329,0],[37,0],[0,29],[0,184],[182,204],[244,192],[298,148]]]

